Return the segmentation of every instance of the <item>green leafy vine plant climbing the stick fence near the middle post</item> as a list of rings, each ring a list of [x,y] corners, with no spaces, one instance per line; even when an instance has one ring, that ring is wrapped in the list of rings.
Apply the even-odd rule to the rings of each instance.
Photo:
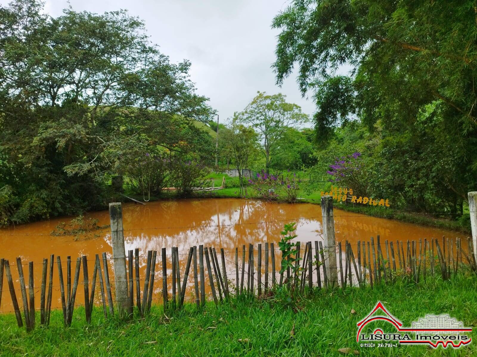
[[[278,243],[278,246],[281,250],[282,253],[282,259],[281,259],[281,268],[280,268],[280,274],[283,274],[285,270],[288,270],[290,268],[292,274],[291,277],[294,278],[294,281],[298,282],[298,284],[290,284],[290,297],[287,297],[288,302],[292,302],[296,298],[296,291],[297,286],[300,286],[299,280],[300,280],[300,271],[303,270],[300,267],[300,260],[301,258],[297,257],[298,254],[298,243],[297,242],[292,242],[294,238],[297,238],[298,236],[295,234],[296,230],[296,223],[291,222],[288,224],[284,225],[283,231],[280,232],[282,235],[282,238],[280,242]],[[287,284],[284,284],[283,286],[286,286]]]

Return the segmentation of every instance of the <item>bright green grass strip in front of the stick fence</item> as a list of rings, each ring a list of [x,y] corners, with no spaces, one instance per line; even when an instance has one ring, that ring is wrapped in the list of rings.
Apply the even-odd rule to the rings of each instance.
[[[424,346],[364,348],[356,342],[356,323],[382,301],[404,327],[426,314],[450,314],[465,327],[477,324],[477,279],[458,276],[450,281],[428,278],[415,286],[316,290],[297,308],[279,299],[240,300],[204,309],[187,304],[174,314],[153,306],[144,319],[121,322],[104,319],[95,307],[87,325],[84,310],[75,309],[73,324],[62,325],[62,312],[52,311],[48,328],[27,333],[16,327],[14,315],[0,316],[1,356],[338,356],[351,347],[360,356],[476,356],[477,344],[452,350]],[[351,309],[356,314],[351,313]],[[37,320],[39,316],[37,316]],[[394,332],[389,326],[385,332]],[[293,332],[292,332],[293,331]],[[471,333],[475,338],[475,332]],[[241,339],[242,341],[239,341]],[[248,339],[248,342],[243,342]]]

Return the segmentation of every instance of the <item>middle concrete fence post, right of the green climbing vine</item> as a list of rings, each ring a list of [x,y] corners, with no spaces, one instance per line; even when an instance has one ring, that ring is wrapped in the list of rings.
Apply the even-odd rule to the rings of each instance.
[[[338,282],[338,268],[336,266],[336,241],[334,238],[334,218],[333,218],[333,198],[332,196],[321,196],[321,218],[323,222],[323,240],[325,264],[327,268],[328,281],[331,285]],[[318,254],[318,252],[317,252]]]

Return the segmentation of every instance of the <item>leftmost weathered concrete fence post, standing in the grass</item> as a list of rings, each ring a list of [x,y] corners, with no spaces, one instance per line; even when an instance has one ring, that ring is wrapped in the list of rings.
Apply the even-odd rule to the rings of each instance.
[[[119,315],[127,315],[129,294],[126,278],[126,251],[124,248],[123,210],[121,202],[109,204],[111,238],[113,241],[114,287]]]

